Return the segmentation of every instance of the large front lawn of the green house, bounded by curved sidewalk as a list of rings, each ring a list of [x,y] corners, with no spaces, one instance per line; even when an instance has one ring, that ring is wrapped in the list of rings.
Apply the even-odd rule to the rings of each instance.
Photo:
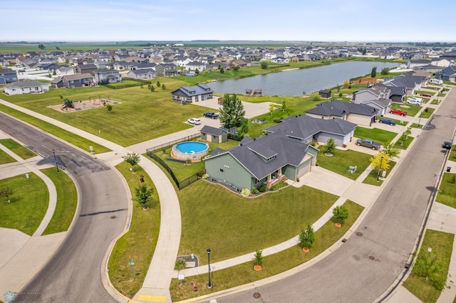
[[[314,223],[338,197],[303,186],[288,186],[243,198],[223,186],[199,180],[178,193],[182,214],[179,255],[214,262],[289,240]]]

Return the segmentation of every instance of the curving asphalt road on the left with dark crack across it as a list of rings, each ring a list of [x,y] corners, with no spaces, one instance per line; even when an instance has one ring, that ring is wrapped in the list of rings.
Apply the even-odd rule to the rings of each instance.
[[[22,289],[41,292],[42,302],[116,302],[101,280],[103,256],[127,219],[128,198],[118,175],[91,156],[0,113],[0,129],[26,144],[43,161],[66,169],[80,189],[80,212],[61,248]]]

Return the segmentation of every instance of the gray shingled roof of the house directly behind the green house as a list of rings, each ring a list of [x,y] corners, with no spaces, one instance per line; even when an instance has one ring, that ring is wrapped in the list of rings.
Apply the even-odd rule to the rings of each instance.
[[[318,132],[345,136],[356,128],[356,124],[343,119],[317,119],[307,115],[292,116],[279,124],[264,129],[265,132],[282,132],[290,137],[306,139]]]

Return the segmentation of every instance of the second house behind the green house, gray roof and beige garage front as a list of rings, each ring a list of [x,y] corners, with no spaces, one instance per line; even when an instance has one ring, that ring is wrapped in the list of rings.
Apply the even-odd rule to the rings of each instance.
[[[378,110],[369,105],[337,100],[320,103],[306,111],[306,115],[317,119],[337,118],[365,126],[371,126],[372,122],[375,122],[377,114]]]

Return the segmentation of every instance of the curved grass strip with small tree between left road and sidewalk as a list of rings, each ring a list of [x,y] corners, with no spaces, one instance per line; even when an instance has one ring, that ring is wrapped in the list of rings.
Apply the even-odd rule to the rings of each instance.
[[[160,230],[160,203],[155,186],[142,167],[135,166],[136,174],[131,173],[130,164],[126,162],[115,167],[124,176],[133,195],[135,188],[141,184],[141,175],[144,176],[145,184],[149,188],[154,188],[154,201],[149,204],[147,211],[143,211],[140,203],[133,200],[130,230],[117,240],[108,261],[110,282],[119,292],[133,298],[144,282],[157,245]],[[130,265],[128,265],[131,259],[135,262],[135,280],[132,279]]]

